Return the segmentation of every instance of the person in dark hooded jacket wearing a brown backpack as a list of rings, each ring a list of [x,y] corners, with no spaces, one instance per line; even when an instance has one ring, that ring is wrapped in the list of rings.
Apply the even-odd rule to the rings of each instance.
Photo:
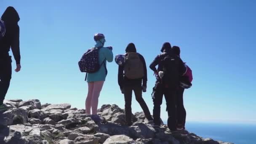
[[[118,67],[118,84],[121,92],[124,93],[125,96],[126,123],[128,126],[132,125],[132,91],[134,91],[136,100],[139,102],[147,120],[150,122],[153,118],[146,102],[142,98],[142,91],[147,91],[147,67],[145,59],[141,54],[137,53],[133,43],[127,45],[125,52],[125,56],[127,57],[125,65]]]

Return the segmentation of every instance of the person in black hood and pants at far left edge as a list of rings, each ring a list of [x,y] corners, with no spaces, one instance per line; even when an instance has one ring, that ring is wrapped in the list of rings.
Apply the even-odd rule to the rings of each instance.
[[[6,109],[3,104],[5,95],[8,91],[11,81],[11,56],[9,56],[10,47],[16,61],[16,72],[21,70],[20,51],[19,51],[19,14],[9,6],[3,13],[1,19],[4,21],[6,33],[0,40],[0,111]]]

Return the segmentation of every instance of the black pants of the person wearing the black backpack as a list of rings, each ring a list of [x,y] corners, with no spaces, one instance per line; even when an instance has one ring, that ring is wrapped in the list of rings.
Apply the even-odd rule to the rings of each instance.
[[[153,88],[152,99],[154,102],[153,117],[155,125],[160,125],[161,104],[165,96],[166,109],[168,112],[168,127],[176,130],[176,90],[165,88],[160,82],[156,82]]]

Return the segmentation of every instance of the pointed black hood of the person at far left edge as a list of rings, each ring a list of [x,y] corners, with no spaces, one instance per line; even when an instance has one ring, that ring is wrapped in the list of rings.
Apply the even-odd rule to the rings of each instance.
[[[6,8],[1,19],[6,24],[16,24],[19,21],[19,14],[15,10],[15,8],[13,8],[12,6],[9,6],[8,8]]]

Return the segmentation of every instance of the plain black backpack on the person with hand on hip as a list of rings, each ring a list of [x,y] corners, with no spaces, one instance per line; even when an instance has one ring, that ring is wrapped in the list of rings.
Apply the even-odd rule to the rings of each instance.
[[[168,88],[179,86],[179,59],[171,54],[166,54],[162,59],[163,72],[162,83]]]

